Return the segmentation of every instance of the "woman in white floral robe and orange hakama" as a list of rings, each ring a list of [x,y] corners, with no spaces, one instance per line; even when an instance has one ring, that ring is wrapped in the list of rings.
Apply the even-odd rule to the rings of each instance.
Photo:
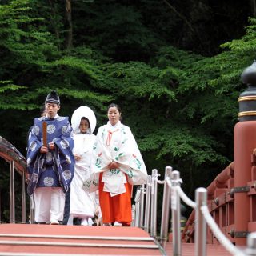
[[[102,222],[105,226],[130,226],[132,185],[146,183],[146,166],[130,127],[122,124],[121,110],[112,103],[109,121],[99,127],[95,145],[94,181],[97,184]],[[96,175],[95,175],[96,174]]]

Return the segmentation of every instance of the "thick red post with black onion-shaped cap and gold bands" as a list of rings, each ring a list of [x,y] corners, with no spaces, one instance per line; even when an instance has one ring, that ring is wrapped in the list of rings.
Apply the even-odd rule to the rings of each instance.
[[[242,72],[248,89],[240,94],[239,122],[234,126],[234,230],[236,245],[246,245],[250,222],[251,155],[256,148],[256,62]]]

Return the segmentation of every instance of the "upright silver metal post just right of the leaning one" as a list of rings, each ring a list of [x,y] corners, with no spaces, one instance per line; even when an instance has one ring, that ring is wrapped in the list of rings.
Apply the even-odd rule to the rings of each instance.
[[[174,170],[171,174],[171,214],[172,214],[172,230],[173,230],[173,255],[182,255],[182,239],[181,239],[181,201],[175,186],[179,186],[180,178],[178,170]]]

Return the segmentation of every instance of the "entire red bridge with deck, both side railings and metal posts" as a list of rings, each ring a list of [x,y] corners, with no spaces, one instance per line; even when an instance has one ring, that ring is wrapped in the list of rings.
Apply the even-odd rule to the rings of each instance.
[[[182,191],[178,171],[167,166],[161,181],[152,170],[135,195],[131,227],[26,224],[26,158],[0,137],[0,157],[10,163],[10,223],[0,224],[0,255],[256,255],[256,62],[243,71],[242,82],[248,89],[238,98],[234,162],[207,188],[196,190],[195,202]],[[15,170],[22,182],[19,224]],[[164,186],[160,234],[158,185]],[[182,231],[181,200],[193,208]],[[30,208],[33,223],[33,200]]]

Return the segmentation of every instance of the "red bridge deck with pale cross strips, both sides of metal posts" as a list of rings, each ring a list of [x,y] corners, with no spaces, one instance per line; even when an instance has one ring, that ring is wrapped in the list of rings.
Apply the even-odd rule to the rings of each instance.
[[[0,256],[173,255],[144,230],[122,226],[0,224]],[[221,245],[207,245],[207,255],[231,256]],[[194,256],[194,244],[182,243],[182,256]]]

